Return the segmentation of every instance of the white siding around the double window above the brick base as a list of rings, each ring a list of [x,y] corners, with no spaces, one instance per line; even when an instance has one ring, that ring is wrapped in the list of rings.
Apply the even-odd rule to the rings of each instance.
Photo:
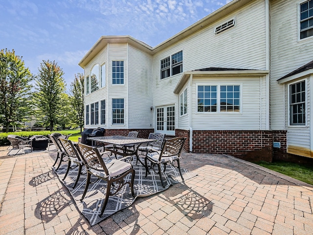
[[[242,112],[241,113],[197,113],[198,84],[241,85],[242,84]],[[192,128],[194,130],[260,130],[261,115],[261,84],[260,78],[211,78],[193,79],[192,89]],[[262,92],[265,92],[262,90]]]

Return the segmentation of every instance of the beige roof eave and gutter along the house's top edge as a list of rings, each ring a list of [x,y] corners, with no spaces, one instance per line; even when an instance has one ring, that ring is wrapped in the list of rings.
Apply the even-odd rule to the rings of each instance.
[[[132,46],[142,49],[143,51],[153,55],[158,51],[169,47],[180,40],[188,37],[189,35],[205,28],[206,26],[220,20],[224,16],[232,13],[233,11],[241,8],[247,3],[254,0],[232,0],[225,4],[221,8],[202,18],[195,24],[190,25],[164,42],[156,45],[156,47],[150,47],[149,45],[143,43],[142,41],[136,40],[129,35],[124,36],[101,36],[100,39],[89,49],[86,55],[80,60],[78,65],[84,69],[84,67],[92,60],[92,58],[99,53],[108,43],[129,43]]]

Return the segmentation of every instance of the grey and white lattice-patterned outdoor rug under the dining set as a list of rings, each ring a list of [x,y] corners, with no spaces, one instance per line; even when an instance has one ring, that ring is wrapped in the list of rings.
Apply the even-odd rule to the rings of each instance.
[[[74,182],[76,180],[78,167],[71,169],[68,172],[67,178],[64,178],[67,163],[62,164],[61,167],[56,171],[60,181],[68,188],[71,193],[77,208],[81,213],[89,220],[90,225],[95,225],[110,215],[116,213],[117,211],[123,210],[131,206],[137,197],[146,197],[149,195],[156,194],[160,191],[164,191],[171,185],[181,183],[182,180],[179,175],[179,170],[171,165],[166,166],[165,174],[163,174],[163,181],[165,188],[162,187],[159,175],[153,170],[149,170],[147,178],[145,178],[145,168],[138,162],[136,165],[136,158],[133,160],[133,166],[135,170],[135,180],[134,180],[134,193],[135,197],[132,196],[129,185],[126,184],[117,194],[109,197],[109,202],[107,207],[100,217],[101,206],[105,198],[105,192],[107,188],[107,183],[104,180],[97,181],[95,184],[89,185],[89,189],[84,200],[81,202],[80,198],[85,189],[87,174],[81,175],[77,186],[73,189]],[[73,165],[74,166],[74,165]],[[85,166],[83,167],[83,169]],[[157,167],[156,167],[157,168]],[[196,176],[195,173],[188,172],[186,169],[181,168],[184,180],[190,179]],[[84,171],[86,172],[86,170]],[[91,182],[93,182],[96,177],[91,176]],[[131,181],[131,174],[124,178],[126,182]],[[165,180],[166,179],[166,180]],[[111,188],[113,191],[114,188]]]

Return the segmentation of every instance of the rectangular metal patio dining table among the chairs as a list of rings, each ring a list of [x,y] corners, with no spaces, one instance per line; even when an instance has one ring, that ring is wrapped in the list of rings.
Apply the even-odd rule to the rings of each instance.
[[[143,139],[143,138],[135,138],[128,136],[102,136],[102,137],[89,137],[87,140],[96,141],[103,144],[106,150],[112,152],[116,155],[121,155],[123,157],[134,156],[138,161],[145,166],[143,162],[138,158],[138,148],[141,144],[147,142],[153,142],[156,140],[152,139]],[[105,143],[111,144],[111,146],[106,146]],[[130,145],[135,145],[130,147]]]

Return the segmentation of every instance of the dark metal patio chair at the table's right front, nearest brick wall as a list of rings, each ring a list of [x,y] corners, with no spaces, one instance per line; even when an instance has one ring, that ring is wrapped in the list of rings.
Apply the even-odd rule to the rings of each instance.
[[[156,172],[156,174],[159,174],[162,186],[163,188],[165,188],[164,182],[162,180],[161,164],[163,164],[164,167],[163,172],[165,172],[166,164],[171,164],[175,168],[179,169],[180,177],[182,180],[184,180],[180,169],[179,159],[185,141],[186,141],[185,138],[177,137],[166,140],[160,151],[156,151],[152,148],[149,149],[145,157],[146,177],[148,175],[149,168],[153,169]],[[147,160],[150,161],[150,166],[148,166]],[[175,161],[177,162],[177,166],[174,165]],[[154,169],[155,165],[157,165],[158,171]]]

